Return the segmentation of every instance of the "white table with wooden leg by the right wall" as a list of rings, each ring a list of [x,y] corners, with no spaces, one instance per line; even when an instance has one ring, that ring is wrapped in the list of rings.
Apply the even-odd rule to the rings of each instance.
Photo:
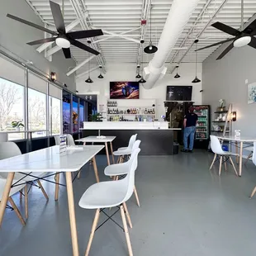
[[[244,143],[254,143],[256,142],[255,137],[247,137],[247,136],[240,136],[235,137],[233,135],[229,136],[217,136],[219,140],[227,140],[227,141],[235,141],[235,151],[237,154],[239,154],[239,177],[242,175],[242,164],[243,164],[243,148]],[[240,150],[238,153],[238,143],[240,144]],[[238,162],[238,158],[236,159],[236,162]]]

